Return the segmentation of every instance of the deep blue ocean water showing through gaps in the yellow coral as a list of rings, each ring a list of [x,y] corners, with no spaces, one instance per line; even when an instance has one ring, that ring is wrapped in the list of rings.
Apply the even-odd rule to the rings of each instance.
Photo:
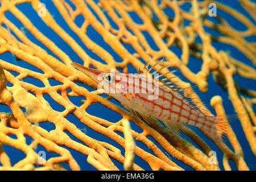
[[[98,57],[97,55],[95,55],[92,51],[90,51],[88,48],[86,48],[86,46],[84,46],[84,44],[82,44],[81,40],[79,39],[79,37],[68,27],[67,23],[65,23],[63,17],[60,15],[60,13],[57,11],[56,7],[53,5],[52,1],[49,0],[44,0],[41,1],[42,3],[46,4],[47,10],[49,11],[49,13],[51,13],[54,17],[54,19],[56,20],[57,23],[59,23],[59,25],[63,28],[64,31],[66,31],[70,36],[72,36],[73,39],[76,40],[76,42],[82,47],[82,49],[85,50],[85,52],[92,57],[95,60],[98,61],[102,61],[102,63],[105,63],[103,60],[101,60],[100,57]],[[67,1],[69,3],[69,1]],[[96,1],[97,2],[97,1]],[[247,13],[246,10],[242,9],[240,3],[238,1],[219,1],[222,2],[230,7],[232,7],[233,9],[236,9],[237,11],[239,11],[240,13],[244,14],[247,18],[249,18],[251,20],[251,22],[253,22],[255,24],[255,21],[253,20],[253,18],[250,17],[250,15]],[[71,6],[72,4],[69,3]],[[76,61],[77,63],[82,63],[81,59],[79,56],[76,55],[76,53],[72,50],[71,47],[68,46],[67,43],[64,42],[64,40],[62,40],[59,35],[57,35],[55,32],[53,32],[51,30],[51,28],[47,27],[46,24],[44,24],[44,22],[40,19],[40,17],[38,16],[38,14],[34,11],[34,9],[32,9],[32,6],[29,3],[23,3],[21,5],[17,5],[16,6],[20,11],[22,11],[22,13],[24,13],[28,19],[31,20],[31,22],[35,25],[36,28],[38,28],[38,30],[40,30],[44,35],[47,36],[47,38],[49,38],[50,40],[52,40],[57,47],[59,47],[60,49],[62,49],[65,53],[67,53],[67,55],[71,58],[71,60]],[[73,6],[72,6],[73,7]],[[75,7],[74,7],[75,8]],[[189,5],[189,3],[186,3],[185,5],[183,5],[183,9],[190,9],[191,6]],[[93,11],[93,10],[92,10]],[[168,14],[168,16],[170,16],[170,18],[174,18],[174,12],[171,9],[166,9],[165,10],[166,14]],[[93,11],[94,13],[94,11]],[[35,44],[37,44],[38,46],[42,47],[43,49],[45,49],[49,55],[52,55],[54,57],[56,57],[56,59],[59,59],[57,56],[55,56],[51,51],[49,51],[49,49],[47,49],[42,43],[40,43],[38,40],[35,39],[35,37],[33,35],[30,34],[30,32],[28,32],[26,30],[26,28],[23,28],[23,24],[19,22],[18,19],[15,18],[15,16],[13,16],[13,14],[11,14],[9,11],[7,11],[5,13],[6,17],[11,20],[11,22],[13,22],[18,28],[22,29],[24,31],[24,33],[26,34],[27,38],[30,39],[32,42],[34,42]],[[94,13],[94,15],[96,15]],[[106,12],[105,12],[106,15]],[[130,13],[131,17],[133,18],[133,20],[135,22],[137,22],[138,24],[142,24],[142,20],[139,19],[139,17],[135,14],[135,13]],[[236,17],[233,17],[231,15],[226,14],[225,12],[221,11],[220,9],[217,9],[217,16],[221,16],[222,18],[225,18],[226,21],[228,21],[233,28],[236,28],[237,30],[240,31],[244,31],[246,30],[246,27],[239,22]],[[98,17],[97,17],[98,18]],[[107,18],[109,19],[109,17],[107,16]],[[156,17],[154,16],[154,19],[156,19]],[[207,17],[207,19],[209,20],[213,20],[213,18],[211,17]],[[98,20],[100,20],[98,18]],[[110,19],[109,19],[110,20]],[[84,21],[84,18],[80,15],[77,16],[75,23],[78,26],[81,26],[82,22]],[[110,20],[111,25],[114,28],[117,28],[117,26],[114,24],[114,22],[112,20]],[[187,22],[189,23],[189,22]],[[4,24],[2,24],[3,27],[6,27]],[[213,35],[221,35],[220,32],[216,31],[216,30],[210,30],[209,28],[205,27],[205,30],[207,30],[209,33],[213,34]],[[98,34],[92,26],[88,27],[88,30],[86,32],[86,34],[89,36],[90,39],[92,39],[95,43],[97,43],[98,45],[100,45],[102,48],[104,48],[106,51],[108,51],[114,58],[115,61],[121,62],[122,59],[121,57],[119,57],[117,55],[117,53],[115,53],[113,51],[113,49],[104,42],[104,39],[101,37],[100,34]],[[156,44],[152,41],[151,37],[148,35],[147,32],[143,32],[145,38],[148,40],[148,42],[150,43],[150,46],[152,47],[152,49],[158,51],[158,47],[156,46]],[[249,38],[246,38],[247,41],[249,42],[255,42],[256,38],[255,35],[254,36],[250,36]],[[196,39],[197,42],[200,42],[200,39],[197,38]],[[247,57],[245,55],[243,55],[242,52],[240,52],[238,49],[234,48],[233,46],[230,46],[228,44],[222,44],[222,43],[218,43],[218,42],[213,42],[212,43],[214,47],[216,47],[217,50],[224,50],[226,52],[229,52],[231,56],[233,56],[234,58],[238,59],[238,60],[243,60],[243,63],[246,63],[247,65],[253,66],[253,64],[251,63],[251,61],[249,59],[247,59]],[[129,52],[134,53],[135,50],[126,44],[123,44],[123,46],[125,46],[127,48],[127,50],[129,50]],[[179,47],[171,47],[170,48],[173,52],[176,53],[177,56],[181,56],[181,49]],[[36,72],[40,72],[43,73],[42,71],[40,71],[38,68],[35,68],[34,66],[26,63],[25,61],[16,61],[15,57],[13,55],[11,55],[11,53],[4,53],[3,55],[0,55],[0,59],[5,60],[5,61],[9,61],[10,63],[13,64],[17,64],[20,67],[23,68],[27,68],[27,69],[31,69],[33,71]],[[198,72],[200,71],[201,68],[201,60],[196,59],[195,57],[190,57],[189,59],[189,65],[188,67],[193,71],[193,72]],[[254,67],[255,68],[255,67]],[[131,67],[129,65],[128,67],[129,69],[129,73],[135,73],[135,69],[133,67]],[[12,72],[14,76],[18,75],[17,73]],[[184,81],[188,81],[187,78],[185,78],[181,72],[178,72],[176,75],[179,75],[180,78]],[[248,89],[253,89],[256,90],[256,84],[255,81],[253,80],[248,80],[246,78],[242,78],[241,76],[234,76],[234,79],[237,81],[238,85],[240,85],[243,88],[248,88]],[[42,82],[40,82],[39,80],[36,80],[35,78],[25,78],[23,81],[26,82],[30,82],[36,86],[39,87],[43,87],[44,84]],[[222,90],[221,86],[217,85],[216,82],[213,80],[212,75],[209,76],[209,89],[207,93],[200,93],[200,97],[202,98],[203,101],[205,101],[206,104],[208,104],[209,109],[212,111],[212,113],[216,114],[215,111],[210,107],[209,105],[209,100],[210,98],[212,98],[213,96],[219,95],[222,97],[223,99],[223,103],[224,103],[224,107],[225,107],[225,111],[226,114],[233,114],[234,113],[234,108],[232,106],[232,103],[230,102],[230,100],[228,99],[228,93],[225,92],[224,90]],[[8,86],[11,86],[10,83],[8,83]],[[53,79],[50,80],[50,84],[51,85],[60,85],[60,82],[57,82]],[[79,84],[80,86],[84,86],[86,89],[88,90],[93,90],[92,88],[89,88],[89,86],[86,85],[82,85]],[[57,110],[57,111],[63,111],[64,107],[57,104],[57,102],[55,102],[54,100],[52,100],[52,98],[46,94],[44,95],[44,98],[49,102],[49,104],[52,106],[53,109]],[[84,99],[82,97],[69,97],[69,99],[73,102],[73,104],[76,104],[77,106],[81,105],[80,100]],[[112,100],[112,102],[114,102],[114,104],[120,105],[117,101]],[[121,106],[121,105],[120,105]],[[254,105],[255,106],[255,105]],[[254,107],[255,110],[255,107]],[[23,111],[25,111],[23,109]],[[97,117],[100,118],[104,118],[108,121],[113,121],[113,122],[117,122],[119,121],[119,119],[122,118],[121,115],[114,113],[114,111],[107,109],[106,107],[100,105],[100,104],[92,104],[87,110],[86,110],[89,114],[92,115],[96,115]],[[9,107],[0,106],[0,112],[10,112]],[[104,141],[104,142],[108,142],[110,144],[113,144],[114,146],[118,147],[121,149],[122,154],[124,155],[125,150],[123,150],[123,148],[121,146],[119,146],[119,144],[115,143],[113,140],[109,139],[108,137],[105,137],[104,135],[98,134],[95,131],[91,130],[89,127],[85,126],[84,124],[82,124],[80,121],[78,121],[78,119],[72,115],[69,114],[67,119],[69,121],[71,121],[72,123],[75,123],[75,125],[79,128],[79,129],[84,129],[83,131],[86,131],[86,134],[89,137]],[[47,131],[53,130],[55,129],[55,126],[52,123],[49,122],[45,122],[40,124],[41,127],[43,127],[44,129],[46,129]],[[136,126],[133,122],[131,122],[131,127],[132,129],[134,129],[137,132],[142,132],[142,129],[140,129],[138,126]],[[232,128],[234,130],[234,132],[237,135],[237,138],[243,148],[243,152],[245,155],[245,162],[246,164],[249,166],[250,169],[252,170],[256,170],[256,158],[255,155],[253,154],[253,152],[251,152],[250,150],[250,146],[247,143],[247,140],[245,138],[245,134],[243,133],[242,127],[240,125],[240,122],[233,122],[232,123]],[[209,140],[207,137],[205,137],[201,131],[199,131],[198,129],[195,129],[196,133],[198,133],[203,139],[205,139],[207,141],[207,143],[210,145],[210,147],[212,147],[212,149],[214,151],[216,151],[217,154],[217,158],[218,161],[220,162],[220,168],[224,169],[222,166],[222,152],[220,150],[218,150],[218,148],[216,147],[216,145]],[[80,142],[79,140],[77,140],[75,137],[73,137],[71,134],[66,133],[67,135],[69,135],[69,137],[71,137],[71,139]],[[118,133],[119,135],[123,136],[121,133]],[[14,137],[15,136],[10,136],[10,137]],[[148,137],[149,139],[153,140],[151,137]],[[27,143],[31,143],[31,138],[27,137]],[[154,141],[154,143],[163,151],[166,152],[158,143],[156,143]],[[143,148],[143,150],[150,152],[152,155],[154,155],[146,146],[144,146],[144,144],[136,141],[137,146]],[[24,153],[21,151],[16,150],[13,147],[10,146],[5,146],[3,145],[3,148],[7,151],[7,154],[10,156],[11,158],[11,164],[15,164],[16,162],[18,162],[20,159],[23,159],[25,157]],[[65,147],[66,148],[66,147]],[[38,148],[36,149],[37,151],[46,151],[45,148],[43,148],[42,146],[38,146]],[[69,151],[71,151],[71,154],[73,155],[73,157],[76,159],[77,163],[79,163],[80,167],[82,170],[95,170],[96,168],[94,168],[93,166],[91,166],[90,164],[88,164],[86,162],[87,156],[81,154],[80,152],[71,150],[68,148]],[[168,154],[167,154],[168,155]],[[46,154],[46,158],[49,159],[52,156],[58,156],[55,153],[49,153],[47,152]],[[176,160],[175,158],[173,158],[172,156],[170,156],[170,158],[172,160],[174,160],[175,163],[177,163],[179,166],[183,167],[184,169],[187,170],[192,170],[191,167],[187,166],[186,164],[180,162],[179,160]],[[123,169],[122,164],[118,163],[117,161],[115,161],[114,159],[112,159],[113,162],[116,164],[116,166],[119,169]],[[150,170],[150,166],[148,166],[148,164],[146,162],[144,162],[141,158],[139,158],[138,156],[135,156],[135,163],[138,164],[139,166],[141,166],[143,169],[146,170]],[[63,163],[63,166],[67,169],[69,169],[69,166],[67,163]],[[236,170],[236,165],[234,164],[233,161],[230,160],[230,166],[232,167],[232,169]]]

